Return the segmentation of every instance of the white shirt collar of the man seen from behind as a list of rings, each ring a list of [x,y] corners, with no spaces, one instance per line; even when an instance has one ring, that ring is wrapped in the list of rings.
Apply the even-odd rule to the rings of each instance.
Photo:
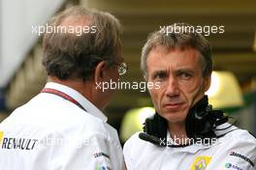
[[[88,113],[100,118],[104,122],[108,121],[108,118],[102,113],[101,110],[99,110],[93,103],[91,103],[88,99],[83,97],[75,89],[72,89],[71,87],[68,87],[63,84],[55,83],[55,82],[48,82],[46,84],[45,88],[55,89],[62,93],[65,93],[66,95],[70,96],[71,98],[76,99],[80,103],[80,105],[85,108],[85,110]]]

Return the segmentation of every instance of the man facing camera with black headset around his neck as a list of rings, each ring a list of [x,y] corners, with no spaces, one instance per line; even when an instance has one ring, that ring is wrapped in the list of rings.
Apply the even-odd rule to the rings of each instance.
[[[256,139],[208,104],[210,45],[198,33],[176,30],[185,25],[156,31],[144,44],[144,78],[160,88],[148,90],[156,114],[124,145],[127,169],[254,170]]]

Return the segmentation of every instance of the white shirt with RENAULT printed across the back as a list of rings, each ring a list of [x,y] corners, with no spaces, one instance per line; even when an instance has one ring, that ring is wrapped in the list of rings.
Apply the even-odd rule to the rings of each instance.
[[[122,170],[117,132],[80,93],[48,82],[77,100],[41,93],[0,124],[0,170]]]

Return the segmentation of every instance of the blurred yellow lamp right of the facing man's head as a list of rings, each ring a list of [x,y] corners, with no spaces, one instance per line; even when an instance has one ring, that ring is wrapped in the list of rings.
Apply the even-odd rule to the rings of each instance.
[[[240,85],[230,71],[213,71],[211,84],[206,93],[214,108],[240,107],[243,105]]]

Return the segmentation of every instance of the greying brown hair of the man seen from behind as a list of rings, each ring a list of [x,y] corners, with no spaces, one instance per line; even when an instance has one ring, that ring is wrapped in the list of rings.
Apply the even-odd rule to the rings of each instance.
[[[54,16],[48,25],[57,27],[64,19],[88,20],[87,26],[94,26],[94,33],[45,33],[43,39],[43,65],[48,75],[61,80],[92,77],[97,64],[103,60],[111,62],[120,47],[120,23],[109,13],[76,6]],[[84,22],[85,22],[84,21]]]

